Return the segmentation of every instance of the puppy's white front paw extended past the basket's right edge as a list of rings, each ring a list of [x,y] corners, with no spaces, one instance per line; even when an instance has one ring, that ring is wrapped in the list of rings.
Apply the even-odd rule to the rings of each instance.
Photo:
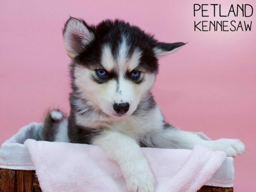
[[[246,147],[240,140],[222,138],[213,142],[215,151],[224,151],[230,157],[236,157],[246,152]]]

